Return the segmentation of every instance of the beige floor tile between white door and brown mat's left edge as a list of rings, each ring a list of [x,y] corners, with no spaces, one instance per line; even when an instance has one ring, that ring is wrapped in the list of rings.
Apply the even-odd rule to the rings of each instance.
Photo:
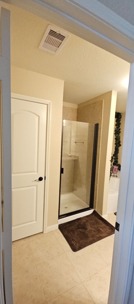
[[[29,240],[29,244],[36,265],[64,252],[54,233],[46,233],[35,240]]]

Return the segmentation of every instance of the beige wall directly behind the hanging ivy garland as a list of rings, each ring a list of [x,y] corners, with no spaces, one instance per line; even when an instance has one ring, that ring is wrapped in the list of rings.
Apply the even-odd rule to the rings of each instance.
[[[125,126],[125,116],[126,113],[121,113],[122,118],[121,118],[121,125],[120,125],[120,141],[121,141],[121,147],[119,147],[119,154],[118,154],[118,162],[119,164],[121,164],[121,159],[122,159],[122,150],[123,150],[123,136],[124,136],[124,126]],[[115,119],[115,123],[116,123],[116,119]],[[115,129],[115,125],[114,125],[114,129]],[[115,135],[113,132],[113,146],[112,146],[112,154],[114,153],[115,150]]]

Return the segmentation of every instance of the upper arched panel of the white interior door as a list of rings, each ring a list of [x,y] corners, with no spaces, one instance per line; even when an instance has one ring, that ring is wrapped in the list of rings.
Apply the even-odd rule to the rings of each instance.
[[[25,111],[13,114],[12,119],[14,136],[12,173],[37,172],[39,117],[35,113]]]

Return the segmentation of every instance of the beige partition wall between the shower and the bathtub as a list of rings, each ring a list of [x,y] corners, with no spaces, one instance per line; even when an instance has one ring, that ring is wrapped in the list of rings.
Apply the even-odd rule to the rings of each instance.
[[[101,141],[100,141],[100,162],[98,171],[98,192],[96,201],[96,211],[101,215],[107,212],[107,200],[109,189],[109,172],[110,172],[110,159],[112,152],[112,140],[114,130],[114,119],[116,110],[117,92],[110,91],[86,102],[78,105],[78,109],[83,106],[93,104],[103,99],[103,116],[101,128]]]

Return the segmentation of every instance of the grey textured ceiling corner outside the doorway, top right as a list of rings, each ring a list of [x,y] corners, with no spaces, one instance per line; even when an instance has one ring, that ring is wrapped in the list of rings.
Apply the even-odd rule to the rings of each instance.
[[[134,26],[134,0],[98,0]]]

